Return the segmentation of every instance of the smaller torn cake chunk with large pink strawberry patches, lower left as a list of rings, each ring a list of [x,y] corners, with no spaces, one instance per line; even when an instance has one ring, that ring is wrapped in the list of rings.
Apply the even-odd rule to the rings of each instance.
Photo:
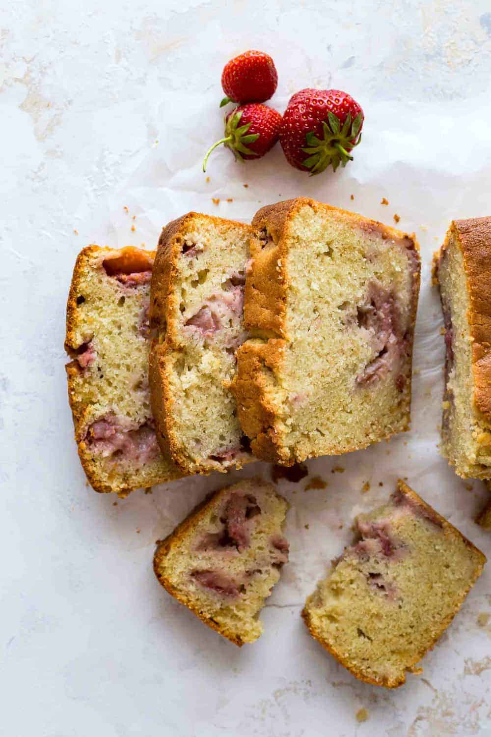
[[[258,612],[288,561],[287,503],[259,479],[207,497],[154,556],[160,583],[236,645],[257,640]]]

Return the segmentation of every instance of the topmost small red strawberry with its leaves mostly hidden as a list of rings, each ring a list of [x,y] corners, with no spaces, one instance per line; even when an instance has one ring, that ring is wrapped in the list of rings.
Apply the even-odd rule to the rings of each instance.
[[[247,51],[231,59],[222,71],[222,88],[227,102],[264,102],[275,94],[278,72],[272,58],[262,51]]]

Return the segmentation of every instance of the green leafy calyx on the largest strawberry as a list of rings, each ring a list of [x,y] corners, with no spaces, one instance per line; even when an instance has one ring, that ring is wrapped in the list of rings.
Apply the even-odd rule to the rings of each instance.
[[[302,164],[311,170],[311,175],[320,174],[329,165],[332,165],[334,171],[339,164],[345,167],[348,161],[353,161],[353,156],[350,156],[348,151],[358,146],[361,141],[360,128],[363,122],[361,113],[358,113],[353,121],[351,113],[347,113],[346,120],[341,125],[338,116],[330,111],[328,121],[329,125],[325,121],[322,122],[323,139],[317,138],[312,131],[305,136],[307,146],[302,150],[310,156],[305,158]]]

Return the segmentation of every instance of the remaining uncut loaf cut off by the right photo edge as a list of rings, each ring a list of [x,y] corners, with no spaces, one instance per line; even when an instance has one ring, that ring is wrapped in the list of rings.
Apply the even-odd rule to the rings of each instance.
[[[453,220],[434,256],[445,323],[442,454],[491,478],[491,217]]]

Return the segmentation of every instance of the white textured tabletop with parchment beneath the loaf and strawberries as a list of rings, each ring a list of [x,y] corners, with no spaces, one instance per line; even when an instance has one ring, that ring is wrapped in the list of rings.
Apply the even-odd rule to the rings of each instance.
[[[490,570],[423,676],[397,691],[354,680],[299,616],[354,514],[384,500],[397,475],[491,553],[490,534],[473,523],[484,489],[437,454],[443,349],[428,280],[451,218],[491,210],[490,2],[2,5],[1,735],[490,735],[491,621],[478,624],[491,612]],[[353,164],[308,178],[279,147],[245,167],[222,151],[206,184],[199,165],[222,131],[222,66],[249,48],[275,57],[280,111],[305,86],[344,88],[361,102]],[[89,242],[154,247],[160,226],[189,209],[248,219],[295,195],[389,223],[397,212],[417,232],[413,430],[311,461],[323,491],[280,485],[292,502],[291,563],[264,609],[263,637],[239,650],[172,600],[151,568],[155,539],[226,478],[135,492],[116,506],[85,485],[66,401],[65,302]],[[255,472],[269,468],[244,474]]]

